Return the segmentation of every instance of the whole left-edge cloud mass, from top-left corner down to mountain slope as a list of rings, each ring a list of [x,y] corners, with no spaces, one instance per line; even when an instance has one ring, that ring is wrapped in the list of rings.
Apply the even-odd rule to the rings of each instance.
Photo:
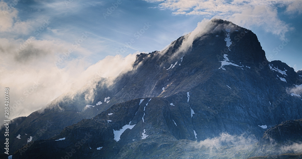
[[[87,57],[92,52],[81,45],[89,42],[89,33],[75,35],[78,43],[46,40],[41,34],[53,32],[50,23],[45,18],[21,21],[16,8],[0,2],[0,90],[10,89],[10,119],[28,116],[64,92],[79,91],[96,76],[115,77],[132,69],[136,54],[106,56],[91,63]]]

